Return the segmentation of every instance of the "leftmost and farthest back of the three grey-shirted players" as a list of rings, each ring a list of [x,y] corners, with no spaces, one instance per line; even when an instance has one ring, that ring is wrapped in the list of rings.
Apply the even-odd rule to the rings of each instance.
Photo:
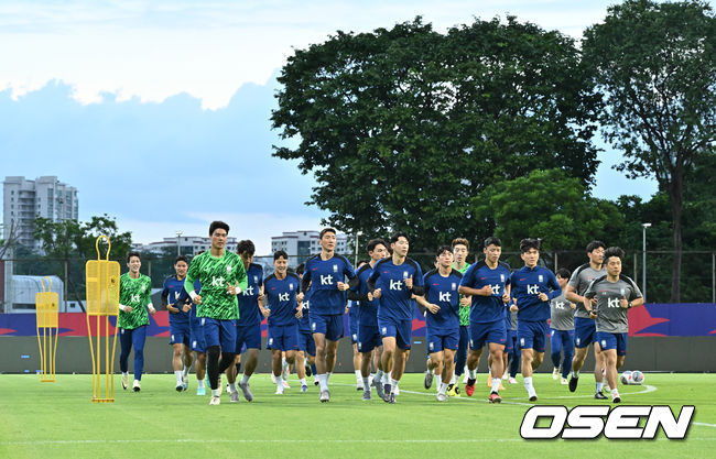
[[[562,384],[567,384],[569,362],[572,362],[572,356],[574,354],[574,308],[576,305],[564,297],[569,275],[569,270],[564,267],[557,270],[556,277],[562,287],[562,295],[550,302],[550,350],[552,363],[554,364],[552,379],[560,378],[560,361],[564,349]]]

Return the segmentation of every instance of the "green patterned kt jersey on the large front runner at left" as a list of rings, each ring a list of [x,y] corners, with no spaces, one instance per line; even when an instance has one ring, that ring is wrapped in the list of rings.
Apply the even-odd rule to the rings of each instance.
[[[196,317],[217,320],[239,318],[239,304],[236,295],[226,291],[228,285],[238,285],[241,291],[248,286],[248,277],[241,258],[234,252],[224,252],[221,258],[211,256],[206,251],[194,256],[186,273],[184,288],[194,289],[194,281],[202,283],[202,304],[196,307]]]

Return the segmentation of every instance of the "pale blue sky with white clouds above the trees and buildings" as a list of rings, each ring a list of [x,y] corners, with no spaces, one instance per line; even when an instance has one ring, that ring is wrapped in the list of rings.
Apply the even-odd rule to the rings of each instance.
[[[317,229],[313,181],[271,157],[275,77],[295,48],[337,30],[422,15],[438,31],[514,14],[574,37],[606,14],[590,1],[3,1],[0,178],[57,175],[80,219],[115,216],[134,240],[204,234],[225,219],[268,253]],[[595,195],[648,198],[600,155]]]

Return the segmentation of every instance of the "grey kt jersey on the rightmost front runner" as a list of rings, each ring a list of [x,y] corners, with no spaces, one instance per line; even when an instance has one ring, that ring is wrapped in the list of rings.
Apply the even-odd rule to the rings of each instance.
[[[607,276],[596,278],[589,284],[585,293],[587,298],[597,297],[594,310],[597,313],[597,331],[609,334],[626,334],[629,331],[627,312],[619,306],[620,298],[633,302],[641,298],[641,291],[632,280],[620,275],[617,282],[609,282]]]

